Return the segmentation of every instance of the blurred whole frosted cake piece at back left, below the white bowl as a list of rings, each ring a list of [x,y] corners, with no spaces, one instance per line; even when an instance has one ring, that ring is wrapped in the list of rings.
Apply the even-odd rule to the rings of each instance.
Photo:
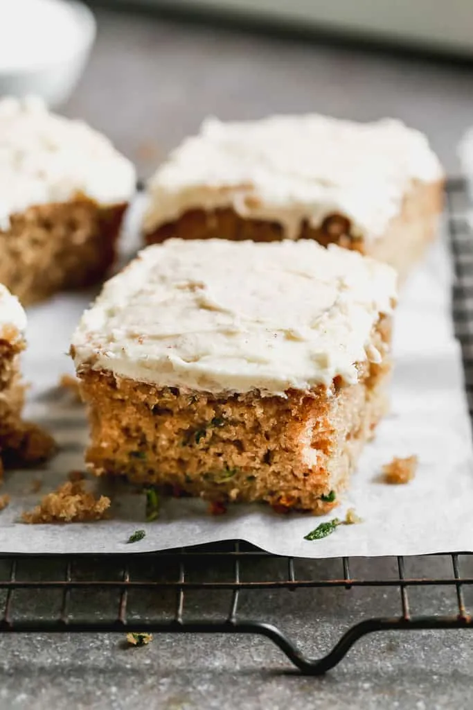
[[[0,100],[0,282],[23,305],[100,280],[135,169],[82,121],[39,99]]]

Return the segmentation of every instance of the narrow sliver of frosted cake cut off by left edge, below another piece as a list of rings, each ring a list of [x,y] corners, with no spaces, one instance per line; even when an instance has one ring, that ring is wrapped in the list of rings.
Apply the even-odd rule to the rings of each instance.
[[[18,432],[23,430],[20,353],[25,346],[25,328],[23,308],[0,284],[0,473],[3,471],[2,451],[14,447]]]

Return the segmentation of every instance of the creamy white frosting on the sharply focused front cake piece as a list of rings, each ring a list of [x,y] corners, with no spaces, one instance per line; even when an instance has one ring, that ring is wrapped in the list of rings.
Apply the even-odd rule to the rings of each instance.
[[[337,246],[171,239],[106,283],[75,363],[214,393],[353,383],[395,298],[390,266]]]

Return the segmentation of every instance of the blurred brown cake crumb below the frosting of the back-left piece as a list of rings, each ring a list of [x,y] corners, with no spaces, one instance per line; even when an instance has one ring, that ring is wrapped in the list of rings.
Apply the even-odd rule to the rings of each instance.
[[[125,209],[78,196],[11,215],[0,229],[0,282],[23,305],[97,283],[115,260]]]

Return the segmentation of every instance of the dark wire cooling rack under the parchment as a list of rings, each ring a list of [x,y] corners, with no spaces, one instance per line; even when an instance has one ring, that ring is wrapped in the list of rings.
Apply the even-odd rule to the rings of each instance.
[[[468,209],[464,182],[450,180],[454,316],[472,411],[473,240]],[[373,601],[375,591],[381,592],[380,605]],[[281,593],[286,598],[274,618],[271,601]],[[195,594],[204,595],[197,608]],[[343,595],[332,613],[332,621],[340,618],[340,629],[328,649],[312,657],[284,630],[285,621],[292,618],[295,626],[323,623],[324,594],[330,600]],[[460,553],[365,559],[361,567],[358,558],[277,557],[243,542],[99,558],[0,555],[0,632],[259,634],[306,674],[330,670],[357,640],[374,631],[472,629],[465,599],[473,600],[473,555]],[[340,609],[350,608],[353,601],[355,616],[343,616]],[[374,616],[379,606],[384,612],[393,603],[396,613]]]

